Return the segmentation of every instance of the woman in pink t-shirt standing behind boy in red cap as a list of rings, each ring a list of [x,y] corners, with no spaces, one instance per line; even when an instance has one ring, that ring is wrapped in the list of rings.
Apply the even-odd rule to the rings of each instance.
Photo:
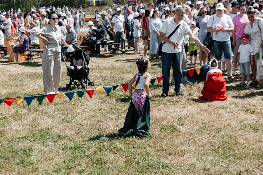
[[[234,31],[232,32],[233,35],[233,46],[235,47],[234,49],[234,75],[239,75],[238,71],[238,57],[239,57],[239,52],[238,48],[241,45],[241,41],[238,39],[241,37],[243,33],[245,33],[245,27],[246,24],[248,23],[248,15],[246,13],[246,4],[240,4],[239,5],[239,12],[240,14],[236,15],[233,18],[233,24],[234,24]],[[235,38],[235,39],[234,39]]]

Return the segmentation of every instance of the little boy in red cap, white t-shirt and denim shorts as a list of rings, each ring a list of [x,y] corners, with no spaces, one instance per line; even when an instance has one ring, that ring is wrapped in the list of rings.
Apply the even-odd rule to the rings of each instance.
[[[242,45],[239,46],[238,52],[240,53],[240,59],[238,66],[240,66],[241,75],[242,75],[242,82],[239,83],[238,86],[242,86],[244,88],[250,88],[250,58],[251,58],[251,65],[253,65],[253,52],[252,46],[248,44],[249,36],[248,34],[244,33],[239,38],[241,39]],[[245,84],[245,76],[247,76],[247,83]]]

